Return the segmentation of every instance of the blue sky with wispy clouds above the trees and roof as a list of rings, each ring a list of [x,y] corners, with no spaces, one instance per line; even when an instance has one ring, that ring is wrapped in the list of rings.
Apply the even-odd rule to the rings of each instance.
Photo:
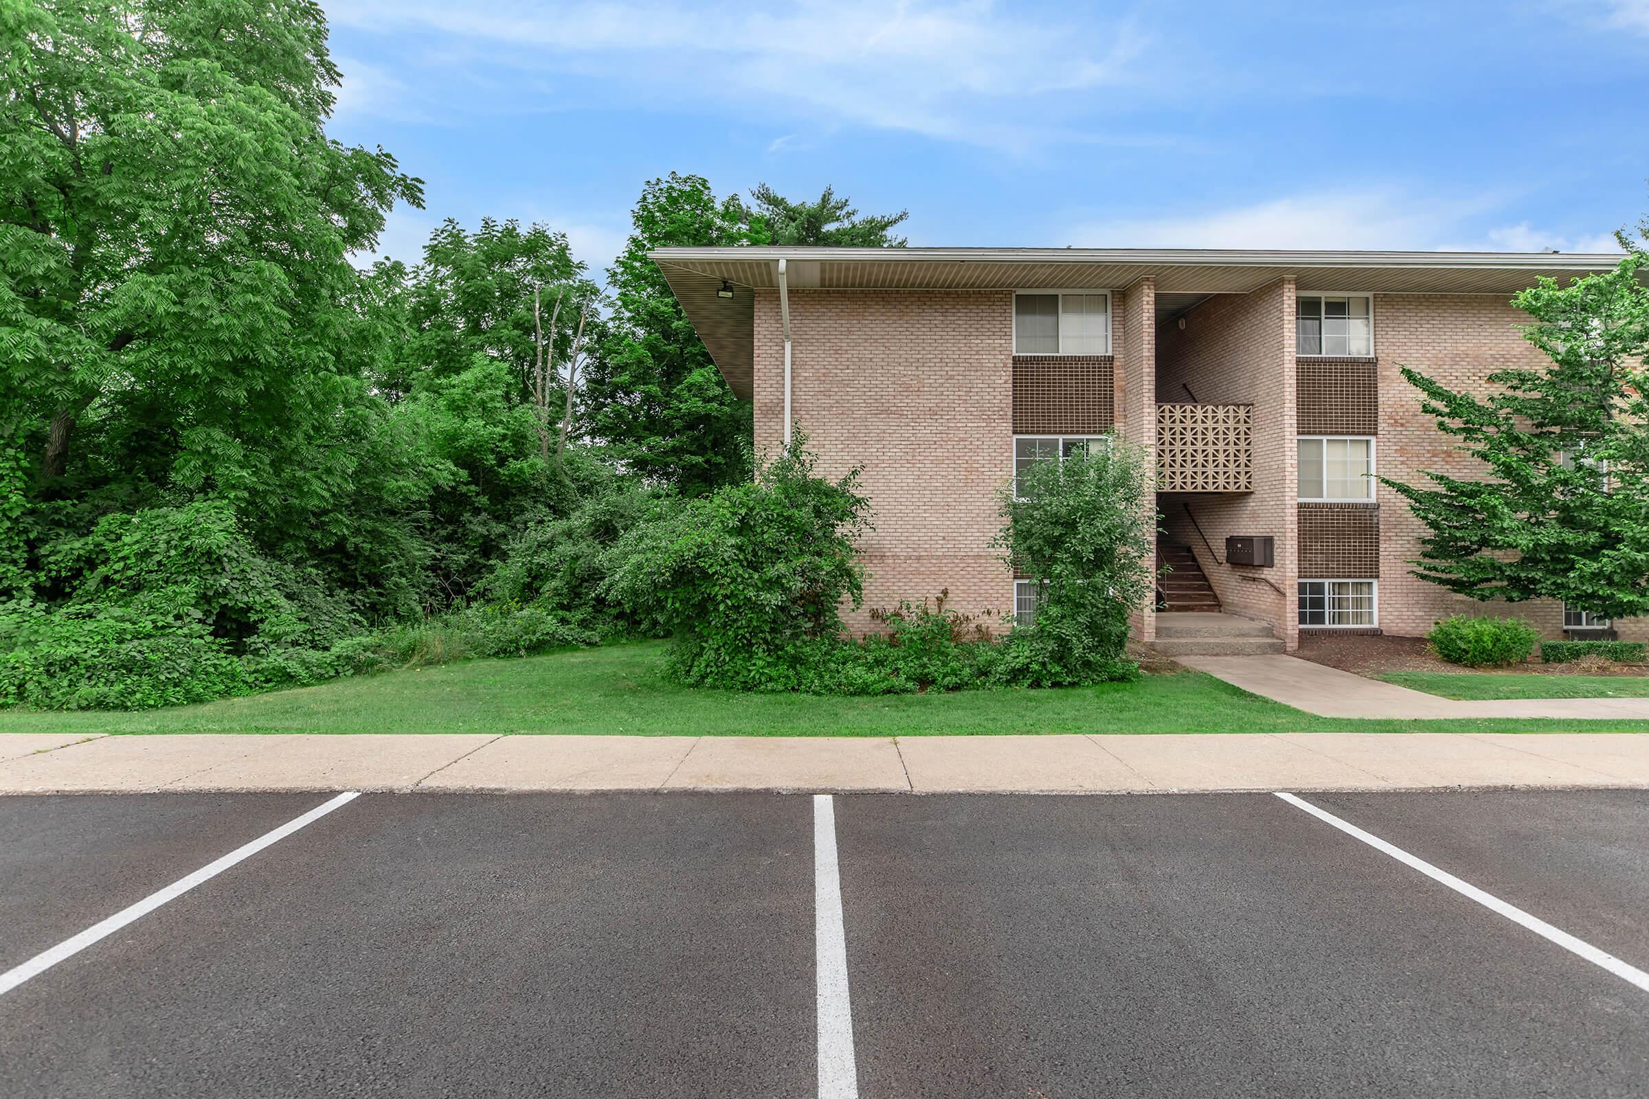
[[[1649,0],[323,0],[333,137],[605,267],[641,183],[826,185],[912,244],[1614,250]]]

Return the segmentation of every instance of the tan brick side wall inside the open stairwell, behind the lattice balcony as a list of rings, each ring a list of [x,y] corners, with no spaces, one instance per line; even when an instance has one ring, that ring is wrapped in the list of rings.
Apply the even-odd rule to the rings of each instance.
[[[1271,623],[1294,649],[1294,283],[1283,278],[1253,293],[1215,295],[1184,320],[1186,328],[1176,323],[1158,334],[1158,399],[1252,404],[1255,484],[1243,494],[1163,493],[1166,537],[1191,547],[1227,610]],[[1215,564],[1184,504],[1220,560],[1227,535],[1268,534],[1276,539],[1276,565]]]

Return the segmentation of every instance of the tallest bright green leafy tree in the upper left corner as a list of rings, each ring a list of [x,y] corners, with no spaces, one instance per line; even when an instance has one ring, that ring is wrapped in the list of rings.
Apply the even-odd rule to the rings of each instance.
[[[336,84],[312,0],[0,3],[0,428],[48,493],[140,470],[298,527],[350,489],[348,254],[420,185],[327,137]]]

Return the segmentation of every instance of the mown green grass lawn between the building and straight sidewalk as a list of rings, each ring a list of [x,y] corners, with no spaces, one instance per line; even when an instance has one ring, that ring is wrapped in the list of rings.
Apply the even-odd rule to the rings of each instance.
[[[140,713],[0,712],[0,733],[632,733],[920,737],[932,733],[1270,733],[1586,728],[1649,722],[1347,722],[1301,713],[1200,672],[1070,690],[890,699],[694,690],[661,676],[663,644],[465,661]],[[1464,677],[1473,679],[1473,677]],[[1491,677],[1484,677],[1491,679]],[[1499,677],[1492,677],[1499,679]]]

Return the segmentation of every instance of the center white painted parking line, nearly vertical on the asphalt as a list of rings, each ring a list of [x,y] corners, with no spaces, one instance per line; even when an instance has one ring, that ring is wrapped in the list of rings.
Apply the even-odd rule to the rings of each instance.
[[[853,1003],[848,998],[848,938],[841,921],[841,873],[836,868],[836,804],[829,794],[813,796],[813,911],[820,1099],[857,1099]]]

